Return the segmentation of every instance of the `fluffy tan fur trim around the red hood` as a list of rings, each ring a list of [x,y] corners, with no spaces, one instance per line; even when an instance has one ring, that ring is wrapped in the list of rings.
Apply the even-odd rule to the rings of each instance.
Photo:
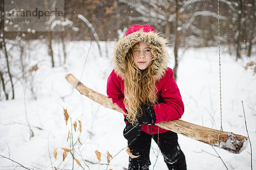
[[[115,73],[122,79],[125,78],[125,55],[134,44],[140,41],[147,43],[151,48],[154,57],[151,67],[155,78],[160,80],[165,74],[169,62],[169,55],[165,48],[167,40],[152,31],[136,31],[116,42],[112,58]]]

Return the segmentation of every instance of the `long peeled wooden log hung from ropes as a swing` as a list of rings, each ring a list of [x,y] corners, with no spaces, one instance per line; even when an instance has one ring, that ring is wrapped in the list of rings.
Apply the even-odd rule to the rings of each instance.
[[[84,96],[87,96],[94,102],[97,102],[107,108],[124,114],[122,109],[112,102],[112,99],[105,95],[99,94],[90,88],[87,88],[82,83],[79,83],[78,85],[79,80],[76,79],[76,77],[74,77],[72,74],[67,74],[66,79]],[[248,138],[245,136],[195,125],[180,119],[160,122],[156,125],[163,129],[171,130],[175,133],[182,134],[211,146],[222,148],[230,153],[241,153],[241,151],[243,151],[248,144]]]

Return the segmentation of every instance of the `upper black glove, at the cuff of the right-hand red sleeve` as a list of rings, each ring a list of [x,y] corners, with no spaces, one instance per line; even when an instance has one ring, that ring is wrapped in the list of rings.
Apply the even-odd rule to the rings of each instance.
[[[145,125],[154,125],[156,122],[154,107],[149,105],[142,105],[141,110],[142,116],[139,117],[139,123]]]

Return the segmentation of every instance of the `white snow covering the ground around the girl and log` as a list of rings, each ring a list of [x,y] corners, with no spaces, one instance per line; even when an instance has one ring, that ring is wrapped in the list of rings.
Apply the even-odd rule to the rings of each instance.
[[[74,142],[79,137],[82,143],[82,145],[75,144],[74,156],[79,159],[85,170],[128,168],[128,154],[125,152],[127,141],[122,135],[125,127],[123,115],[82,96],[64,78],[66,74],[71,73],[79,79],[90,42],[68,42],[67,64],[56,68],[51,68],[47,46],[38,41],[31,43],[31,47],[34,47],[30,51],[33,60],[29,65],[42,61],[38,64],[39,69],[33,73],[37,100],[31,98],[27,88],[24,96],[23,86],[18,84],[15,86],[15,99],[0,102],[0,155],[35,170],[51,169],[52,166],[72,169],[73,161],[70,153],[67,153],[67,158],[64,162],[62,161],[63,150],[61,148],[70,148],[70,139],[67,142],[67,136],[72,126],[70,120],[67,126],[65,125],[62,108],[64,107],[73,122],[81,121],[81,134],[78,131],[74,132],[74,129],[72,132]],[[33,46],[33,44],[37,45]],[[81,82],[106,95],[107,78],[113,68],[111,65],[113,42],[101,42],[100,45],[103,56],[99,56],[98,47],[96,43],[93,43]],[[58,47],[55,45],[55,53],[58,53]],[[172,54],[172,48],[169,48],[169,51]],[[58,65],[58,57],[55,59]],[[247,136],[241,105],[243,101],[250,141],[255,144],[256,77],[253,77],[252,71],[244,70],[245,60],[235,62],[234,59],[235,56],[230,56],[225,52],[224,47],[221,48],[222,127],[224,131]],[[173,62],[174,59],[171,60],[171,67]],[[218,62],[218,47],[191,48],[184,52],[177,75],[177,85],[185,104],[182,120],[220,129]],[[27,121],[34,133],[31,138]],[[214,147],[221,156],[219,159],[215,157],[217,154],[208,144],[182,135],[178,135],[178,138],[180,148],[186,156],[188,170],[226,169],[221,159],[229,170],[250,169],[250,154],[248,153],[250,145],[239,154],[228,153]],[[57,160],[53,157],[55,148],[58,152]],[[99,161],[95,150],[105,156],[108,151],[113,156],[113,160],[107,165],[107,159],[102,156],[102,164],[97,164]],[[253,155],[255,154],[253,150]],[[158,158],[156,155],[157,144],[152,142],[150,170],[153,170],[156,160],[155,170],[167,170],[161,153]],[[256,164],[255,158],[253,164]],[[15,162],[0,156],[0,169],[14,169],[16,166],[16,170],[24,169]],[[82,168],[74,162],[74,169],[81,170]]]

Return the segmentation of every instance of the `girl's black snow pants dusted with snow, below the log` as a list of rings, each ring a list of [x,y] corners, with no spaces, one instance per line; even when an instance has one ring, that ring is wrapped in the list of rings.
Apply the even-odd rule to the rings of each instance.
[[[151,146],[152,135],[141,131],[137,140],[128,141],[131,153],[137,158],[129,157],[128,170],[148,170],[151,164],[149,160],[149,151]],[[168,131],[165,133],[154,134],[154,141],[163,154],[164,161],[169,170],[186,170],[186,161],[183,152],[177,142],[177,133]]]

